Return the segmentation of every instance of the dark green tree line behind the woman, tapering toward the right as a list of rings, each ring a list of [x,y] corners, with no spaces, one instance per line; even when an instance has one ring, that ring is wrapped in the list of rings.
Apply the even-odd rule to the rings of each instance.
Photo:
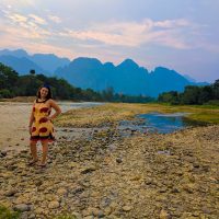
[[[149,96],[114,93],[113,88],[107,88],[101,92],[93,91],[92,89],[83,90],[69,84],[65,79],[35,74],[33,69],[30,70],[30,74],[19,76],[12,68],[0,62],[0,99],[34,96],[37,89],[44,83],[50,85],[53,96],[58,100],[126,103],[148,103],[154,101]]]

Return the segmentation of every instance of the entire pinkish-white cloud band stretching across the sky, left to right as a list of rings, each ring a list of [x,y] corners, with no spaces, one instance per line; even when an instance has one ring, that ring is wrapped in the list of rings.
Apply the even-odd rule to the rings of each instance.
[[[7,9],[4,13],[5,28],[1,28],[5,34],[15,34],[20,39],[54,42],[64,47],[78,43],[81,47],[105,47],[111,48],[136,48],[142,46],[164,46],[175,49],[210,48],[201,39],[200,30],[203,25],[191,22],[186,19],[153,21],[145,19],[141,22],[118,22],[108,21],[105,23],[90,23],[83,28],[65,26],[65,21],[55,14],[47,13],[44,18],[35,13],[18,13],[12,9]],[[61,23],[61,25],[60,25]],[[16,31],[15,31],[15,30]],[[197,41],[198,38],[198,41]]]

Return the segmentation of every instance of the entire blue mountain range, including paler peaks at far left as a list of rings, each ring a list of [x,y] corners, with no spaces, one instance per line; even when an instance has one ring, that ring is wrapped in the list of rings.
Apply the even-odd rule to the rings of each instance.
[[[36,73],[64,78],[72,85],[95,91],[113,88],[116,93],[129,95],[149,95],[157,97],[162,92],[182,92],[186,85],[205,85],[206,82],[193,82],[165,67],[152,71],[140,67],[130,58],[115,66],[102,64],[97,58],[78,57],[73,60],[60,58],[54,54],[28,55],[24,49],[0,50],[0,61],[14,68],[19,73]],[[22,68],[23,67],[23,68]]]

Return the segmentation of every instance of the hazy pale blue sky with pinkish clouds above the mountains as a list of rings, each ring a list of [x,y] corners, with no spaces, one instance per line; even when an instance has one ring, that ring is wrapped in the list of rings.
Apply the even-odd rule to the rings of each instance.
[[[1,0],[0,48],[219,79],[219,0]]]

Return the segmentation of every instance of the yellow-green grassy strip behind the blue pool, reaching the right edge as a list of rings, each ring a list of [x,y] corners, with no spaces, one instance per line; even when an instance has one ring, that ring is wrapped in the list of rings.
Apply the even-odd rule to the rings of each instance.
[[[135,115],[159,113],[188,113],[187,119],[219,124],[219,107],[216,106],[170,106],[161,104],[108,103],[92,108],[72,110],[61,115],[56,124],[65,127],[102,127],[116,125],[123,119],[134,119]]]

